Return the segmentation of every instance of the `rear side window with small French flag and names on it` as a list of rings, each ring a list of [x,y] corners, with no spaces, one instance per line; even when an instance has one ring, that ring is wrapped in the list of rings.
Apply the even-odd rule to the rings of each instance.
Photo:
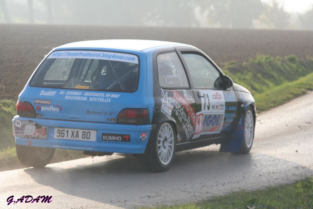
[[[163,88],[189,88],[187,76],[176,52],[157,56],[159,84]]]

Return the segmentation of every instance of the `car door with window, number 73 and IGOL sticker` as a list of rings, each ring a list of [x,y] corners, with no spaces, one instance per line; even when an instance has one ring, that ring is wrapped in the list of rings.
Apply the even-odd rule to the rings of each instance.
[[[196,125],[192,140],[226,137],[235,127],[238,102],[233,87],[225,89],[222,71],[201,51],[180,50],[192,81]]]

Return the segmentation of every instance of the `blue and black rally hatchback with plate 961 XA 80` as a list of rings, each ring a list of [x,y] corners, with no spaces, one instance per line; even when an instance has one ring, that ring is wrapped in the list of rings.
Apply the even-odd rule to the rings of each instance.
[[[255,102],[201,50],[152,40],[92,40],[54,48],[18,96],[18,159],[47,165],[55,149],[129,153],[166,171],[175,152],[221,144],[249,153]]]

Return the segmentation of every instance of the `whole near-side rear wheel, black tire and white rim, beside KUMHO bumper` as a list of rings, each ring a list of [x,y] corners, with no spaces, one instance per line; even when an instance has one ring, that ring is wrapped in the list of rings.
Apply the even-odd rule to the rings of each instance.
[[[172,165],[176,150],[176,133],[170,123],[162,123],[152,138],[146,154],[138,155],[144,170],[164,172]]]

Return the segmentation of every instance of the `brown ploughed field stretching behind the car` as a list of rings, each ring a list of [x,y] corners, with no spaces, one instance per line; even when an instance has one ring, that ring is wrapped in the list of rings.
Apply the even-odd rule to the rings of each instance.
[[[309,31],[0,24],[0,99],[17,100],[36,66],[52,48],[91,39],[192,44],[217,63],[248,61],[257,54],[313,56],[313,32]]]

